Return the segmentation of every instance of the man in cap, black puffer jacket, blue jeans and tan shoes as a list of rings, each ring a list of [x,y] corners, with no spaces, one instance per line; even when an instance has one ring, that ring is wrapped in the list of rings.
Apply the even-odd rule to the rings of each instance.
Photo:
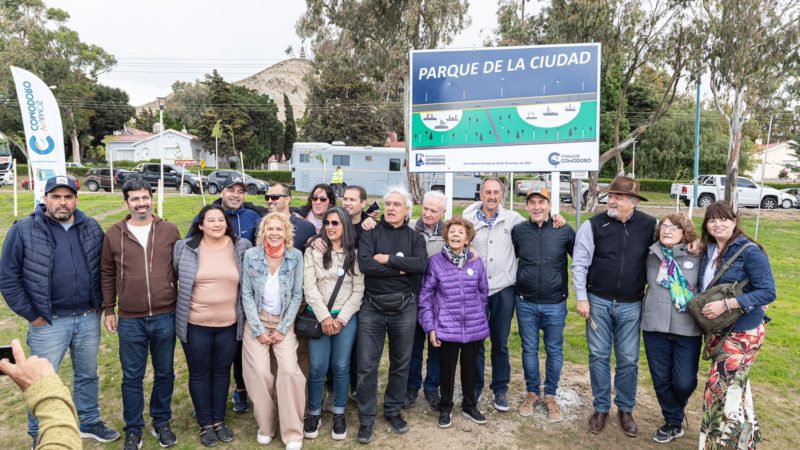
[[[522,369],[527,394],[519,407],[522,416],[533,414],[544,401],[553,422],[563,419],[556,403],[556,390],[564,363],[564,325],[567,319],[567,255],[575,246],[575,231],[569,225],[553,228],[550,191],[532,187],[525,209],[530,219],[514,227],[511,241],[517,264],[516,310],[522,339]],[[544,398],[539,390],[539,331],[544,333],[547,352]]]

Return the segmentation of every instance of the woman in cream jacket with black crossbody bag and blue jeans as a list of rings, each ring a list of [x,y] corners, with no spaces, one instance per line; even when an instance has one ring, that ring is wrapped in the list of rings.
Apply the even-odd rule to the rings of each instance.
[[[308,415],[303,435],[319,434],[322,414],[322,385],[328,366],[333,371],[333,427],[331,437],[347,437],[344,409],[350,383],[350,353],[356,339],[356,313],[364,296],[364,275],[356,259],[355,230],[341,208],[323,215],[320,239],[326,250],[308,247],[305,254],[303,288],[307,311],[322,329],[319,337],[309,336]]]

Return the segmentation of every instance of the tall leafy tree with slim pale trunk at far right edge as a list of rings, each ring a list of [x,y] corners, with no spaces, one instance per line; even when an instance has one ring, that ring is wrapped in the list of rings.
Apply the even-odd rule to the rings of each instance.
[[[696,26],[708,36],[703,60],[714,104],[728,123],[725,201],[736,209],[748,105],[774,97],[800,67],[800,3],[705,0],[696,15]]]

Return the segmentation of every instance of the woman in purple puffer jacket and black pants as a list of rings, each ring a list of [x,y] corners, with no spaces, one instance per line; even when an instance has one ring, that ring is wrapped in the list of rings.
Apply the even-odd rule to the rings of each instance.
[[[461,353],[461,390],[464,417],[486,423],[475,399],[475,366],[481,342],[489,337],[486,303],[489,282],[480,258],[470,261],[469,243],[475,237],[472,224],[453,217],[444,224],[446,244],[428,260],[419,293],[419,323],[431,345],[440,348],[441,394],[439,427],[450,426],[456,363]]]

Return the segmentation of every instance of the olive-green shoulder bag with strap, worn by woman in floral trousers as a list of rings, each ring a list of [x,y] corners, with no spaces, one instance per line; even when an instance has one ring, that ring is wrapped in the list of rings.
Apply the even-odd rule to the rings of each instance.
[[[716,302],[719,300],[724,300],[726,298],[734,298],[742,295],[744,292],[744,287],[750,282],[750,279],[744,279],[741,281],[734,281],[733,283],[722,283],[714,285],[714,283],[719,280],[722,275],[730,269],[731,265],[736,258],[738,258],[744,250],[751,246],[755,245],[752,242],[748,242],[739,248],[736,253],[733,254],[727,261],[722,264],[720,267],[719,272],[711,279],[711,282],[708,284],[708,288],[697,294],[692,301],[686,306],[686,309],[691,314],[692,318],[700,325],[700,328],[706,332],[707,335],[712,334],[724,334],[725,336],[720,339],[719,341],[719,348],[710,349],[706,346],[703,349],[703,359],[709,360],[714,359],[716,355],[719,353],[718,350],[722,347],[722,342],[727,338],[728,334],[730,334],[731,330],[733,329],[733,325],[739,320],[739,317],[742,316],[744,313],[741,308],[729,309],[724,314],[720,314],[714,319],[709,319],[708,317],[703,315],[703,308],[711,303]],[[710,336],[706,336],[706,344],[710,341]]]

